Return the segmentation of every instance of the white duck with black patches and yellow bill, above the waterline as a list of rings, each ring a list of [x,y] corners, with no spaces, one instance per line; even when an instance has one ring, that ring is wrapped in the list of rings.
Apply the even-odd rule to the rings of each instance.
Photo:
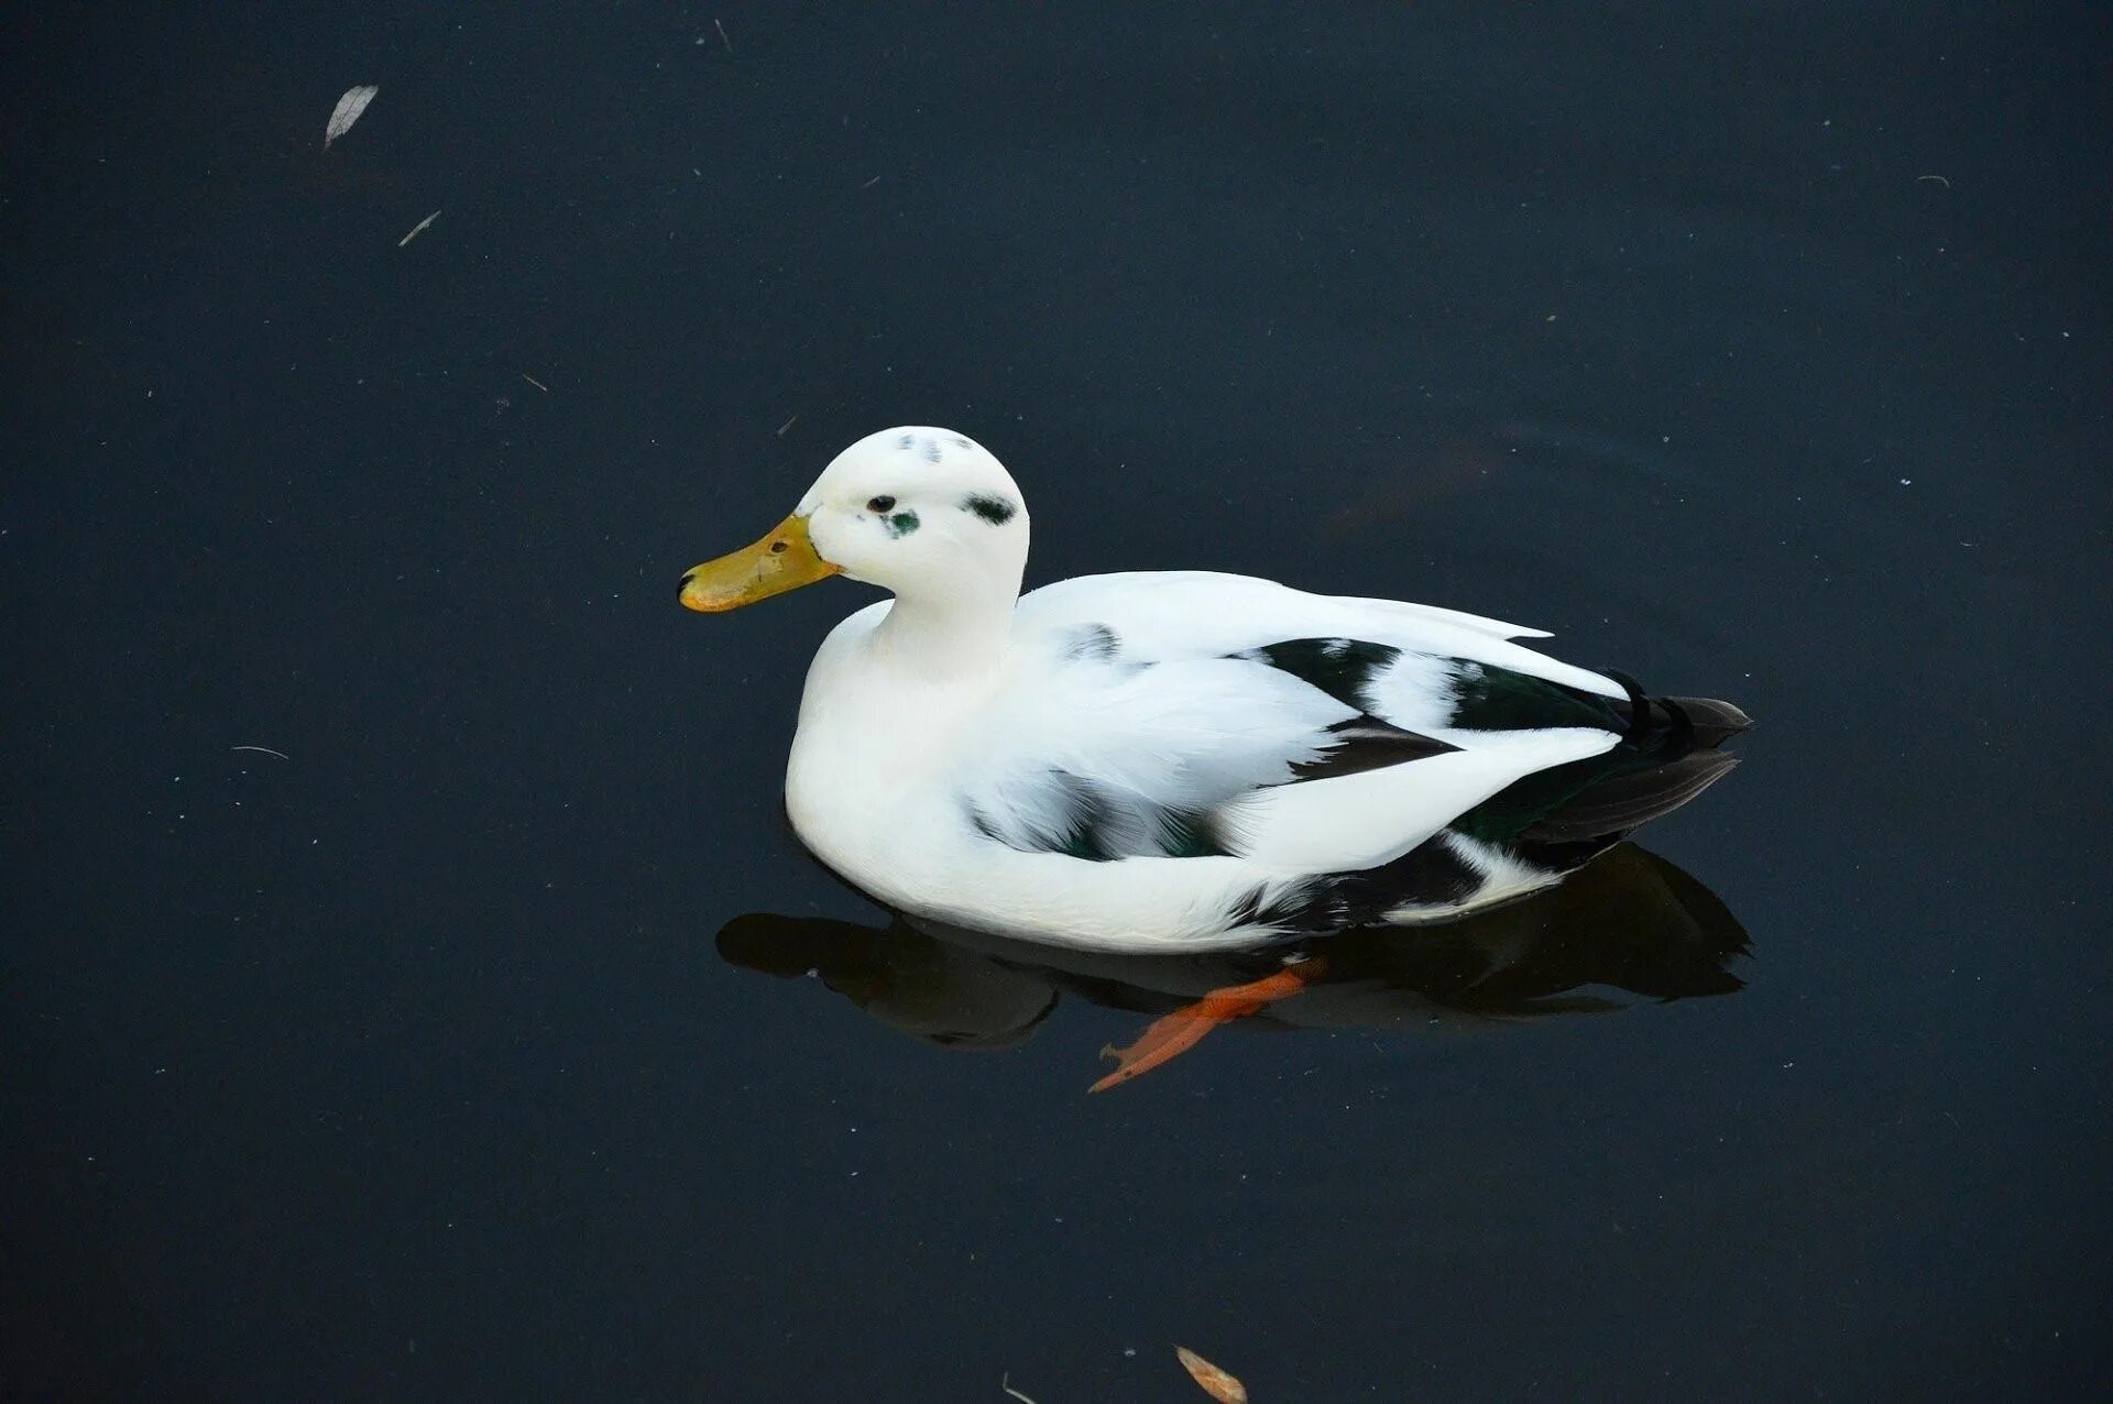
[[[898,912],[1143,954],[1456,921],[1686,804],[1750,726],[1439,606],[1204,570],[1021,593],[1027,547],[995,454],[898,426],[682,574],[708,614],[830,576],[890,593],[814,654],[784,813]]]

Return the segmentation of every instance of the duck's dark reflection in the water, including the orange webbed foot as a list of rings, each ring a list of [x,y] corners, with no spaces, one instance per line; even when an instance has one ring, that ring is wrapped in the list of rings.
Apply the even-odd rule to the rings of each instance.
[[[718,954],[742,969],[816,973],[868,1016],[925,1043],[1002,1049],[1065,994],[1158,1016],[1103,1049],[1095,1092],[1194,1047],[1211,1028],[1475,1028],[1606,1013],[1644,999],[1728,994],[1745,929],[1699,880],[1621,845],[1513,906],[1433,927],[1371,927],[1299,946],[1209,954],[1107,954],[1042,946],[896,914],[847,921],[735,916]]]

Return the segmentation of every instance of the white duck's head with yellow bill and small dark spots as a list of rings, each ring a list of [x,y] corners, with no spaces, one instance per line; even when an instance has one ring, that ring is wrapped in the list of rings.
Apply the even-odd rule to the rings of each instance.
[[[1018,593],[1025,562],[1027,507],[989,450],[951,429],[885,429],[837,454],[763,540],[693,566],[682,604],[735,610],[833,574],[896,595]]]

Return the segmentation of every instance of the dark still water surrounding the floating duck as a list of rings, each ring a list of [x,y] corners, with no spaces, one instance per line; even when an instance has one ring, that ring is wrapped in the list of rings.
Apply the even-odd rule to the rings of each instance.
[[[712,19],[8,21],[6,1393],[2102,1389],[2102,11]],[[1198,971],[890,929],[864,591],[674,604],[894,422],[1741,701],[1693,921],[1086,1098]]]

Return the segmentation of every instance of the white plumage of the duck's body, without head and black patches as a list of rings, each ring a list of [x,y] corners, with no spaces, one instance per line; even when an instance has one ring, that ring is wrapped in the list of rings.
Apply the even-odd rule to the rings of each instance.
[[[1511,642],[1534,631],[1454,610],[1308,595],[1232,574],[1084,576],[1018,602],[991,676],[936,686],[875,646],[890,608],[852,614],[816,654],[786,775],[792,826],[830,868],[900,908],[1029,940],[1107,950],[1251,944],[1264,931],[1228,929],[1226,912],[1257,885],[1390,861],[1511,781],[1619,739],[1597,728],[1441,726],[1435,659],[1625,697],[1608,678]],[[1071,657],[1092,627],[1114,631],[1116,657]],[[1228,654],[1299,638],[1401,648],[1376,678],[1373,714],[1460,750],[1276,783],[1354,709]],[[978,832],[976,809],[999,826],[1031,828],[1037,815],[1006,809],[1048,794],[1033,779],[1052,769],[1168,807],[1202,783],[1247,777],[1249,794],[1234,807],[1242,855],[1088,861],[1025,853]],[[1462,857],[1490,870],[1504,864],[1494,851]],[[1475,906],[1551,880],[1509,868]]]

